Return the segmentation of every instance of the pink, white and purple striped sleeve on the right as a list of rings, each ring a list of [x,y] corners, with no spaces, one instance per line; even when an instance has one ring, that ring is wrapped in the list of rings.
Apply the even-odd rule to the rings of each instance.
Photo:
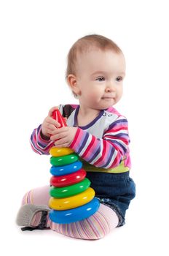
[[[106,129],[103,138],[95,138],[89,132],[78,128],[70,148],[91,165],[113,168],[126,159],[129,143],[127,119],[119,116]]]

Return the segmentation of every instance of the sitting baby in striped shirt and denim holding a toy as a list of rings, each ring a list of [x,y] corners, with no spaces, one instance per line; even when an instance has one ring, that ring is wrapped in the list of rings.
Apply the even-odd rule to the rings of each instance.
[[[50,186],[32,189],[23,197],[17,225],[23,230],[50,228],[63,235],[103,238],[125,224],[125,212],[135,197],[130,178],[127,119],[113,108],[122,97],[125,57],[111,39],[87,35],[78,39],[68,53],[66,79],[79,105],[59,105],[50,109],[43,123],[34,129],[31,146],[36,153],[68,147],[79,155],[87,178],[100,200],[93,216],[70,224],[57,224],[48,217]],[[59,109],[67,127],[52,118]]]

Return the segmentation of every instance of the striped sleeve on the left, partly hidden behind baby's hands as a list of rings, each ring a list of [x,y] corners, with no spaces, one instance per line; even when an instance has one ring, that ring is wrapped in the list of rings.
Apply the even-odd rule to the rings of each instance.
[[[38,154],[49,154],[54,142],[51,140],[44,140],[41,136],[41,125],[34,129],[30,139],[31,148]]]

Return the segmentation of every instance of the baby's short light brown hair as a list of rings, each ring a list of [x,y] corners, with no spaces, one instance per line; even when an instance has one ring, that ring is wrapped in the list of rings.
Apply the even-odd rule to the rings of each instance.
[[[66,79],[68,75],[76,75],[76,59],[78,53],[85,53],[87,50],[98,48],[99,50],[113,50],[115,53],[122,53],[122,50],[115,42],[107,37],[99,34],[90,34],[85,37],[79,38],[68,52]],[[74,92],[73,92],[74,94]],[[74,94],[76,98],[76,94]]]

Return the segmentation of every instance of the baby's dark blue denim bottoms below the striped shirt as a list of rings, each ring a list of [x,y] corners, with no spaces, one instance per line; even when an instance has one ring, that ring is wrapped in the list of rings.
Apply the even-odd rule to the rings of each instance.
[[[95,189],[95,197],[112,208],[119,217],[118,227],[125,225],[125,212],[135,197],[135,183],[126,173],[87,172],[87,178]]]

